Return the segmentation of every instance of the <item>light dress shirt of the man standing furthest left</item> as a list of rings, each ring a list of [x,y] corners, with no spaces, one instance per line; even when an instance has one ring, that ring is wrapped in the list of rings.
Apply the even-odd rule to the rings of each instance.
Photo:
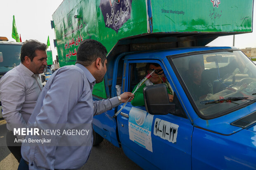
[[[0,79],[2,115],[7,122],[8,130],[26,128],[42,89],[38,75],[22,63]],[[22,136],[17,137],[22,139]]]

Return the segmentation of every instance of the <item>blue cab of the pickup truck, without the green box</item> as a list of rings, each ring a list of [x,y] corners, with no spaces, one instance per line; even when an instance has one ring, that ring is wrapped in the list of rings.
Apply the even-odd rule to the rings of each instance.
[[[187,80],[188,75],[193,76],[190,60],[198,58],[205,65],[209,60],[231,55],[238,59],[238,67],[230,62],[228,71],[225,67],[204,68],[202,79],[203,74],[213,77],[207,84],[213,93],[205,93],[203,98],[194,95],[195,89]],[[101,141],[99,134],[122,147],[144,169],[256,168],[256,66],[242,51],[191,47],[122,56],[113,66],[112,95],[116,95],[115,85],[120,85],[122,92],[132,91],[147,74],[146,63],[158,63],[164,70],[174,91],[168,107],[174,105],[174,109],[163,106],[168,98],[166,102],[162,88],[156,86],[147,94],[147,107],[155,105],[156,111],[147,112],[145,106],[135,107],[129,102],[116,119],[112,116],[123,104],[95,116],[95,142]]]

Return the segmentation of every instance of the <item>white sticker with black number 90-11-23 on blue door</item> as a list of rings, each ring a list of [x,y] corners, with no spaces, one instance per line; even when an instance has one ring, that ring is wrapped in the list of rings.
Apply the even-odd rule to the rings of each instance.
[[[154,135],[175,143],[178,135],[178,125],[156,118],[154,123]]]

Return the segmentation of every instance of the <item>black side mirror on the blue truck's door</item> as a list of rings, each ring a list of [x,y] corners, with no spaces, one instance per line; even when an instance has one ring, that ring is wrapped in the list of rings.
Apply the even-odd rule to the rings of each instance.
[[[154,84],[143,89],[145,107],[149,114],[168,114],[175,112],[175,104],[169,102],[164,84]]]

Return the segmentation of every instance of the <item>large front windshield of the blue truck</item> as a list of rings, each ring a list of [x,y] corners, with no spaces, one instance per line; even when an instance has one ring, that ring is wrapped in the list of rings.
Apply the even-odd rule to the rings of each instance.
[[[256,65],[242,51],[221,51],[172,58],[181,83],[199,114],[213,118],[256,98]],[[205,101],[244,97],[249,100]],[[199,115],[200,116],[200,115]]]

